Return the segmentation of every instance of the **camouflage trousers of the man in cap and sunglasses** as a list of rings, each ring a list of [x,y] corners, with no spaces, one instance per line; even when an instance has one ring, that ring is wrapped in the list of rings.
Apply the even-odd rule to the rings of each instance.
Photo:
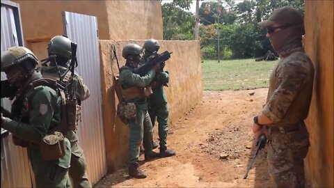
[[[277,187],[305,187],[303,159],[308,153],[310,141],[305,124],[298,123],[297,127],[292,132],[269,128],[269,175]]]

